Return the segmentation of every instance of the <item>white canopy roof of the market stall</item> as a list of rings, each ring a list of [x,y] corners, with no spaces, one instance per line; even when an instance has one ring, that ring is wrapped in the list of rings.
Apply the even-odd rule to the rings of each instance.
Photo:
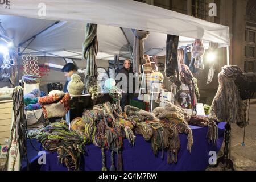
[[[46,5],[44,17],[38,16],[39,3]],[[229,45],[229,27],[131,0],[12,0],[0,14],[15,46],[36,55],[81,58],[87,22],[99,24],[97,59],[130,58],[130,28],[150,31],[144,41],[148,55],[165,55],[167,34],[179,35],[179,46],[195,39],[203,39],[206,47],[209,41]]]

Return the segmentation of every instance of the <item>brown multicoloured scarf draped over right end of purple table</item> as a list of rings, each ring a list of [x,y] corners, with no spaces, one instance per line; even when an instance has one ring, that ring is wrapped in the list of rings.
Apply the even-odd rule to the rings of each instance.
[[[213,117],[191,115],[189,124],[200,127],[208,126],[208,143],[213,142],[214,144],[216,144],[218,139],[218,126],[216,125],[216,122],[218,122],[217,119],[214,119]]]

